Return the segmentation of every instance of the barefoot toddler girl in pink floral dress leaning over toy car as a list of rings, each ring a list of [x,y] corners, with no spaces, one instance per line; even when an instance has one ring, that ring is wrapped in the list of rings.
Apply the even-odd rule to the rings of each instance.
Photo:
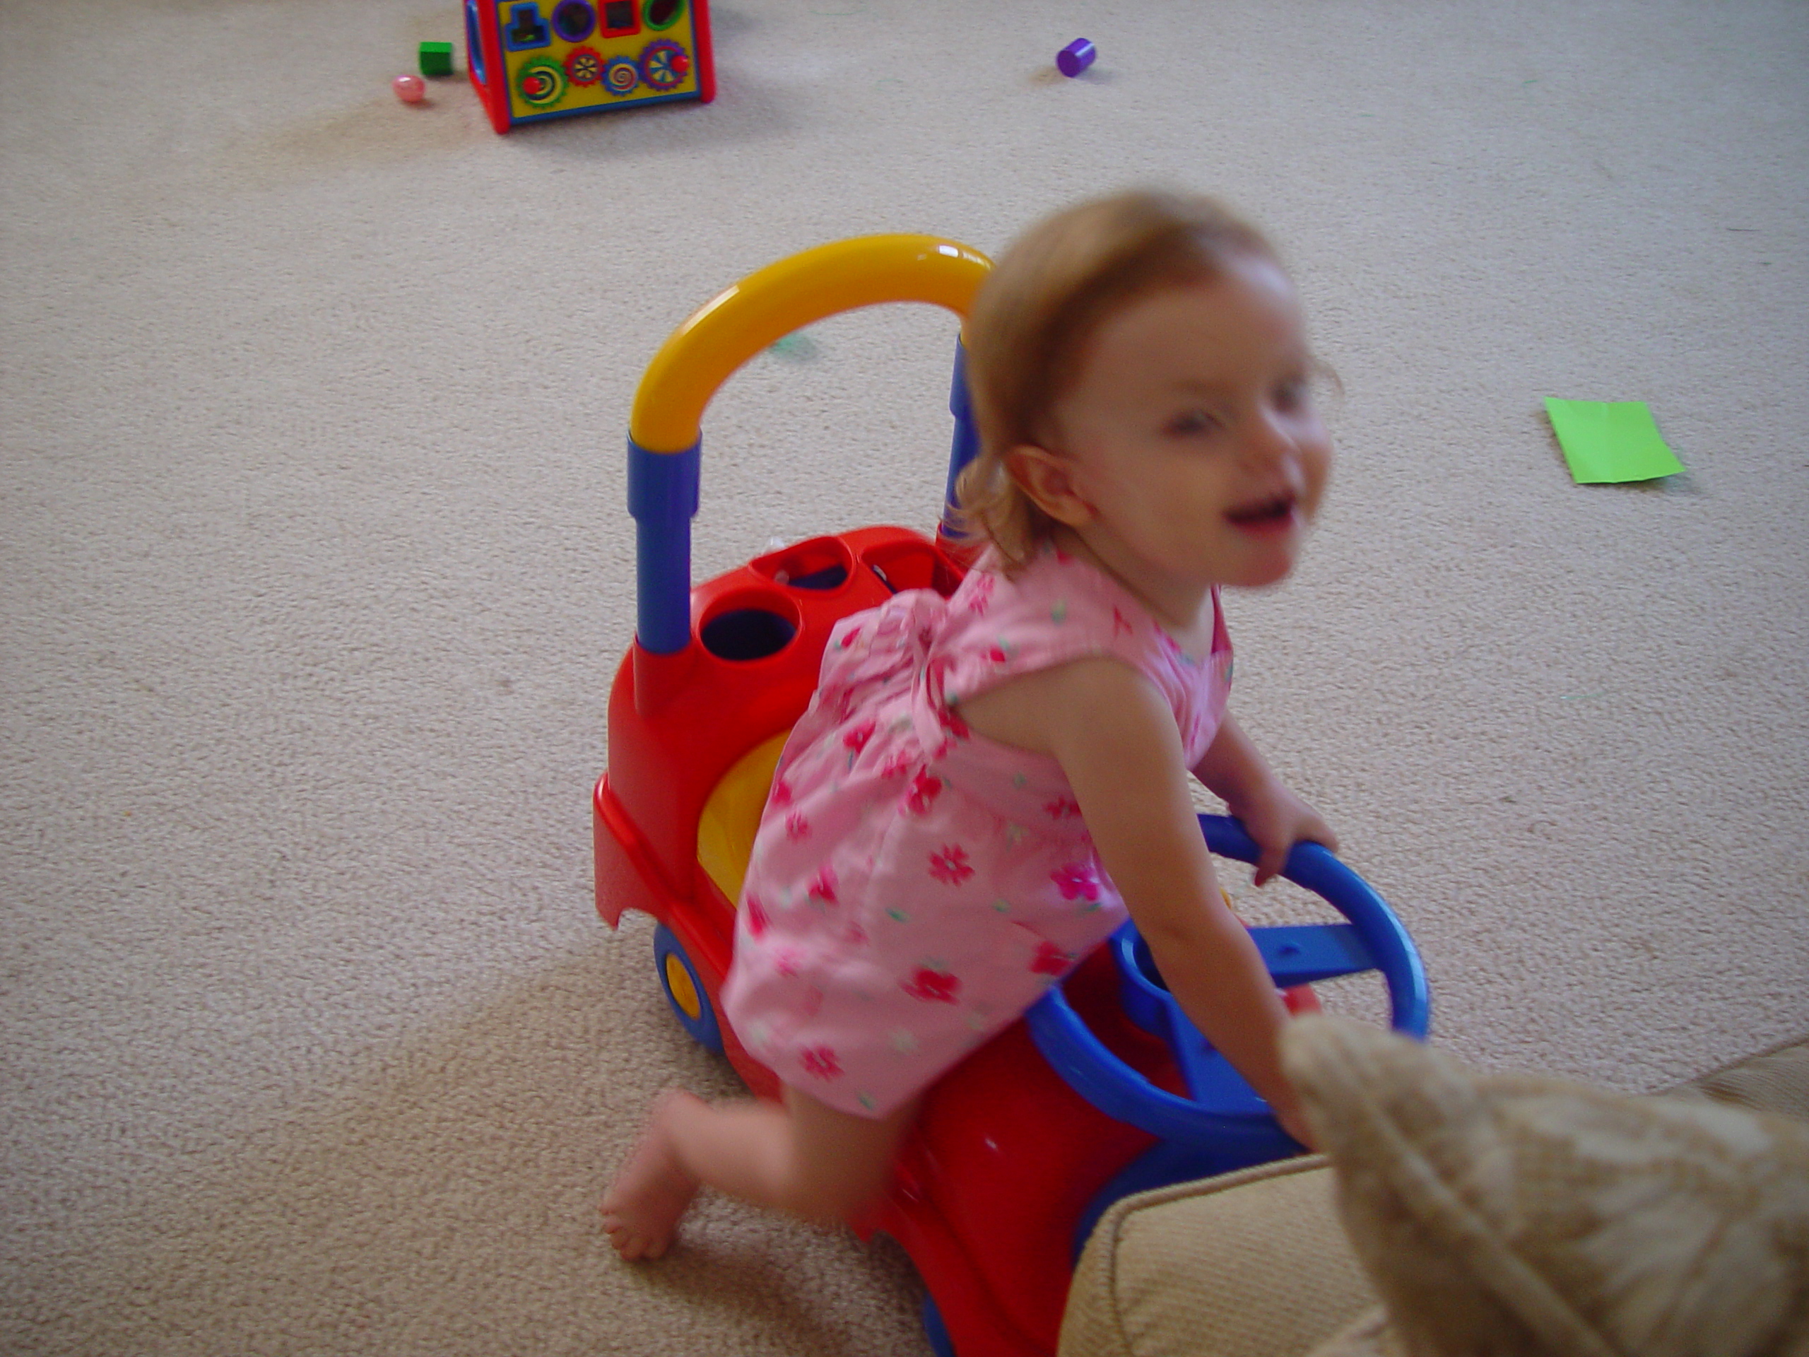
[[[986,550],[841,621],[760,821],[722,1008],[783,1106],[668,1093],[602,1203],[657,1257],[704,1183],[819,1221],[919,1095],[1129,910],[1187,1015],[1306,1140],[1286,1010],[1187,776],[1261,845],[1337,847],[1225,711],[1219,586],[1283,579],[1331,461],[1293,284],[1210,199],[1123,194],[999,261],[966,326]]]

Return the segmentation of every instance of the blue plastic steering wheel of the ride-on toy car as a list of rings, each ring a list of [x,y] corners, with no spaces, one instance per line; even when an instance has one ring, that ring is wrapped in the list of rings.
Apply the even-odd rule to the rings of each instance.
[[[1254,863],[1259,856],[1255,840],[1230,816],[1203,814],[1199,829],[1207,847],[1223,858]],[[1388,903],[1319,843],[1295,843],[1283,876],[1324,897],[1350,923],[1252,928],[1275,984],[1288,988],[1380,970],[1388,982],[1391,1026],[1424,1039],[1429,1020],[1425,970]],[[1125,923],[1107,946],[1118,964],[1125,1013],[1167,1042],[1192,1096],[1156,1087],[1113,1055],[1069,1006],[1062,986],[1055,984],[1031,1006],[1026,1020],[1037,1049],[1062,1078],[1107,1116],[1165,1142],[1210,1147],[1227,1163],[1259,1163],[1297,1153],[1299,1145],[1281,1129],[1268,1104],[1181,1013],[1136,926]]]

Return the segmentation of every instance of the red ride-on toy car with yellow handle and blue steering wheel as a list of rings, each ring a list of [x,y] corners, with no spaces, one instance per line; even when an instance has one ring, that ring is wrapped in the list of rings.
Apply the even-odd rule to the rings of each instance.
[[[706,304],[660,347],[635,396],[628,501],[637,521],[637,637],[610,693],[597,782],[597,910],[658,921],[673,1011],[762,1096],[772,1071],[716,1017],[734,905],[785,735],[816,688],[830,628],[904,588],[953,593],[966,554],[868,527],[760,555],[691,588],[704,407],[747,358],[823,317],[933,302],[964,317],[990,268],[953,241],[879,235],[771,264]],[[955,474],[975,436],[957,342]],[[1234,820],[1201,816],[1214,852],[1255,861]],[[1397,1030],[1424,1035],[1425,977],[1388,905],[1337,858],[1297,845],[1284,872],[1350,923],[1252,930],[1290,1006],[1306,986],[1377,968]],[[1297,1153],[1268,1107],[1179,1013],[1134,928],[924,1096],[885,1201],[856,1229],[899,1239],[928,1286],[944,1357],[1047,1357],[1093,1223],[1127,1192]]]

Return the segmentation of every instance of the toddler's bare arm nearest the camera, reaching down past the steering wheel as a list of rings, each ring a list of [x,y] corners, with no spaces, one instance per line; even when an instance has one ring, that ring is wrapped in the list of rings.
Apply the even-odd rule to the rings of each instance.
[[[1179,731],[1147,678],[1078,660],[1011,684],[1017,740],[1053,754],[1087,832],[1183,1011],[1306,1142],[1277,1040],[1288,1010],[1225,905],[1187,791]],[[997,709],[997,707],[995,707]]]

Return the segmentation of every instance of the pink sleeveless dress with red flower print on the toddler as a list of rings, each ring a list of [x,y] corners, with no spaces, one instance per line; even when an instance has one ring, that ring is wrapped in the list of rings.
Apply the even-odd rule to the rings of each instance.
[[[1174,709],[1189,767],[1217,733],[1232,651],[1185,655],[1094,566],[988,554],[952,599],[843,619],[760,818],[722,990],[754,1058],[883,1116],[1024,1013],[1102,943],[1123,901],[1062,767],[968,729],[961,700],[1114,655]]]

